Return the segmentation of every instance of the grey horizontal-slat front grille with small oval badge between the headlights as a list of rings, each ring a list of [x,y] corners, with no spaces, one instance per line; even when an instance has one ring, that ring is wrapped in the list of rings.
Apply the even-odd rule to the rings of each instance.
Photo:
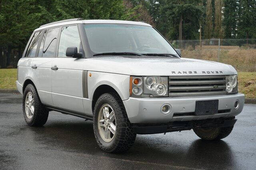
[[[224,75],[169,76],[169,97],[223,94],[226,94],[226,76]]]

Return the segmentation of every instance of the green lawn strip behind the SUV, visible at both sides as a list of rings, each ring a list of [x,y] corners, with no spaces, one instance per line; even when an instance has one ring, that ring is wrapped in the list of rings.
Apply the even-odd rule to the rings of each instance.
[[[0,69],[0,89],[16,89],[17,69]],[[256,99],[256,72],[238,73],[239,92]]]

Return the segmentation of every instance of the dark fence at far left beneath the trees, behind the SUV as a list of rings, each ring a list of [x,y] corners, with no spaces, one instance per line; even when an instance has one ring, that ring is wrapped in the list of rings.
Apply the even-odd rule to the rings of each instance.
[[[0,69],[17,68],[23,50],[24,47],[12,43],[0,45]]]

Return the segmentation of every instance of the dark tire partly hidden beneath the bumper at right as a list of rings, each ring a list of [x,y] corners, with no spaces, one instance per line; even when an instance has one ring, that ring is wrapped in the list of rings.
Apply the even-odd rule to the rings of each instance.
[[[232,131],[232,127],[193,128],[195,134],[203,140],[220,140],[226,138]]]

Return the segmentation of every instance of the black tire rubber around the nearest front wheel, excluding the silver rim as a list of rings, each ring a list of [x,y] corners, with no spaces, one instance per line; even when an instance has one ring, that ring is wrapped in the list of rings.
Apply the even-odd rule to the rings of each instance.
[[[116,132],[110,142],[105,142],[102,139],[98,129],[98,115],[102,106],[106,104],[112,107],[116,120]],[[124,152],[132,146],[136,138],[136,133],[132,130],[122,100],[115,93],[104,93],[96,101],[93,115],[93,129],[98,145],[105,152]]]

